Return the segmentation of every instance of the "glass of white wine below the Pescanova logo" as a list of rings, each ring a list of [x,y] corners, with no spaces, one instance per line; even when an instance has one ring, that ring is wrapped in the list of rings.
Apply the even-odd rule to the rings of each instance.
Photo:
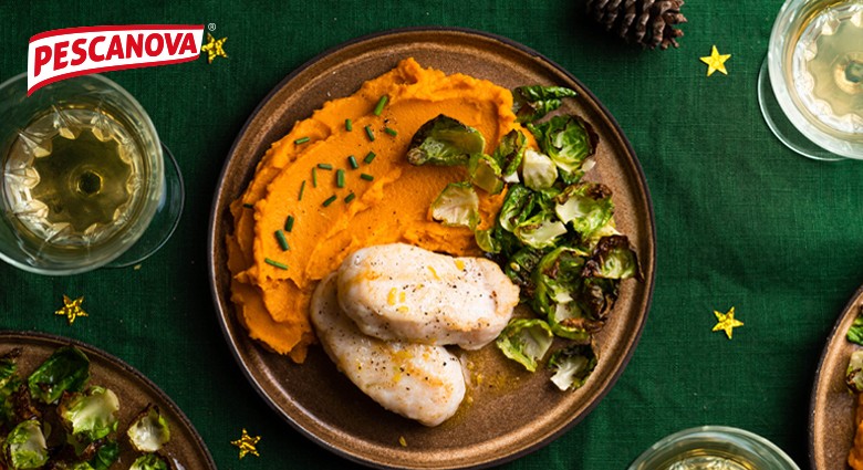
[[[0,259],[41,274],[143,261],[183,212],[179,167],[141,104],[102,75],[27,96],[0,84]]]

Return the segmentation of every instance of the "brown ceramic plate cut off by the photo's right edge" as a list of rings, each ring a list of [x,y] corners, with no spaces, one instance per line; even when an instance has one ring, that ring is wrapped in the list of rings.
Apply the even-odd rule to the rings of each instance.
[[[851,353],[860,349],[845,340],[863,305],[860,288],[830,333],[815,373],[809,409],[809,458],[815,470],[845,470],[854,439],[854,396],[845,387],[845,369]]]

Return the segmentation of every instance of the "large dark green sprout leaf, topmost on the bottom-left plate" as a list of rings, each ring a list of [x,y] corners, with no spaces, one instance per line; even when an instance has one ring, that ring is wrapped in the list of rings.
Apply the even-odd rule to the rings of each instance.
[[[90,359],[74,346],[58,348],[28,378],[30,394],[53,404],[63,391],[81,391],[90,379]]]

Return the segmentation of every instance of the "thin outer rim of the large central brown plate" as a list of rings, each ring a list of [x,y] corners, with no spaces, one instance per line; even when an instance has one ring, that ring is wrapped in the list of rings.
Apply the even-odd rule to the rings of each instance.
[[[217,289],[217,273],[215,271],[215,263],[212,255],[216,252],[216,243],[220,243],[221,241],[216,240],[216,224],[219,220],[219,202],[222,199],[222,192],[219,190],[219,187],[221,182],[225,180],[227,173],[229,170],[229,167],[231,166],[232,156],[237,149],[237,147],[241,144],[241,140],[243,138],[243,135],[251,126],[252,122],[258,117],[259,112],[267,105],[269,102],[279,93],[279,91],[290,81],[292,81],[294,77],[310,69],[311,66],[314,66],[318,62],[321,60],[324,60],[329,55],[339,52],[340,50],[344,48],[349,48],[352,45],[357,45],[364,42],[368,41],[375,41],[379,40],[382,38],[386,38],[389,35],[397,35],[402,33],[457,33],[457,34],[465,34],[465,35],[475,35],[481,39],[486,40],[493,40],[502,43],[506,46],[516,49],[517,51],[528,54],[537,60],[540,60],[544,62],[549,67],[553,69],[554,71],[563,74],[566,79],[573,81],[576,83],[583,91],[583,94],[586,95],[588,100],[591,102],[592,105],[594,105],[603,115],[605,119],[607,119],[609,124],[613,128],[613,130],[620,137],[620,143],[623,145],[626,149],[626,152],[632,156],[631,164],[635,171],[635,176],[637,177],[638,185],[641,187],[640,192],[644,197],[644,203],[647,207],[647,213],[646,213],[646,220],[648,222],[648,233],[645,233],[648,237],[648,240],[651,241],[648,244],[648,251],[651,254],[651,259],[653,261],[652,269],[649,272],[645,273],[644,275],[644,284],[647,286],[645,290],[644,295],[644,314],[641,317],[641,321],[636,325],[636,327],[633,330],[633,335],[631,337],[632,346],[627,348],[625,354],[620,358],[621,364],[620,367],[614,370],[614,373],[610,376],[607,385],[602,388],[595,396],[594,399],[588,406],[584,408],[584,411],[581,414],[581,416],[570,420],[565,426],[562,426],[557,432],[553,432],[549,435],[545,439],[534,442],[524,449],[510,453],[508,456],[490,460],[488,462],[481,463],[479,466],[470,466],[470,468],[488,468],[493,466],[500,466],[506,462],[511,462],[516,459],[519,459],[521,457],[524,457],[526,455],[532,453],[551,442],[555,441],[558,438],[560,438],[563,434],[572,429],[576,424],[582,421],[588,415],[590,415],[596,406],[599,406],[600,401],[611,391],[612,388],[614,388],[614,385],[616,385],[617,379],[620,379],[623,372],[626,369],[626,366],[630,363],[630,359],[632,358],[633,354],[635,353],[635,349],[637,348],[638,342],[641,340],[642,333],[644,331],[644,325],[647,323],[647,317],[649,316],[652,302],[653,302],[653,293],[655,288],[655,276],[656,276],[656,257],[657,257],[657,249],[656,249],[656,218],[655,218],[655,209],[653,205],[653,199],[651,197],[649,187],[647,186],[647,178],[644,174],[644,168],[642,167],[641,160],[637,158],[637,154],[635,153],[635,149],[632,146],[632,143],[626,137],[625,133],[621,128],[620,124],[617,123],[617,119],[614,118],[614,116],[611,114],[611,112],[607,109],[607,107],[591,92],[579,79],[576,79],[571,72],[569,72],[566,69],[558,64],[557,62],[550,60],[548,56],[543,55],[542,53],[533,50],[532,48],[529,48],[518,41],[514,41],[512,39],[482,31],[477,29],[470,29],[470,28],[462,28],[462,27],[444,27],[444,25],[417,25],[417,27],[405,27],[405,28],[393,28],[393,29],[386,29],[377,32],[372,32],[367,34],[362,34],[356,38],[336,43],[333,46],[326,48],[322,52],[313,55],[308,61],[303,62],[301,65],[292,70],[290,73],[288,73],[281,81],[279,81],[275,85],[273,85],[269,92],[263,96],[263,98],[258,103],[258,105],[252,109],[252,112],[249,114],[249,117],[243,123],[242,127],[238,130],[237,137],[235,138],[233,143],[231,144],[231,147],[229,148],[225,161],[222,163],[222,168],[219,171],[219,176],[217,179],[217,187],[214,194],[211,208],[210,208],[210,215],[209,215],[209,221],[208,221],[208,231],[207,231],[207,250],[208,250],[208,259],[207,259],[207,270],[208,270],[208,278],[209,278],[209,284],[210,284],[210,295],[212,299],[212,302],[215,304],[216,310],[216,316],[219,323],[219,327],[222,332],[222,336],[225,337],[225,341],[227,342],[227,345],[230,348],[231,355],[233,356],[235,361],[237,362],[237,365],[239,366],[240,370],[242,372],[243,376],[249,380],[250,385],[252,385],[252,388],[258,394],[258,396],[267,404],[267,406],[275,411],[278,416],[281,417],[284,421],[287,421],[292,429],[298,431],[300,435],[305,437],[306,439],[311,440],[315,445],[320,446],[321,448],[325,449],[329,452],[332,452],[341,458],[344,458],[346,460],[357,462],[364,466],[373,467],[373,468],[383,468],[383,469],[389,469],[389,468],[397,468],[395,466],[383,466],[378,464],[376,462],[370,462],[367,460],[364,460],[360,458],[358,456],[354,456],[352,453],[349,453],[337,447],[332,446],[329,442],[324,442],[322,439],[316,437],[314,434],[312,434],[309,429],[301,426],[299,422],[297,422],[293,418],[288,416],[285,410],[281,409],[275,405],[275,403],[267,395],[267,393],[263,389],[263,386],[261,383],[256,379],[254,376],[252,376],[251,372],[249,370],[248,365],[243,361],[243,358],[240,356],[239,348],[237,347],[236,341],[230,332],[230,326],[227,323],[227,316],[226,312],[222,311],[221,303],[219,301],[219,292]],[[260,347],[260,345],[254,345],[256,347]],[[462,467],[458,467],[462,468]]]

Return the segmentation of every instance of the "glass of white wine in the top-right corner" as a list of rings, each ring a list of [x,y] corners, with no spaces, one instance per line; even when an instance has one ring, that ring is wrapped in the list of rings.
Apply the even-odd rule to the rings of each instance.
[[[863,159],[863,0],[788,0],[758,77],[761,111],[794,152]]]

